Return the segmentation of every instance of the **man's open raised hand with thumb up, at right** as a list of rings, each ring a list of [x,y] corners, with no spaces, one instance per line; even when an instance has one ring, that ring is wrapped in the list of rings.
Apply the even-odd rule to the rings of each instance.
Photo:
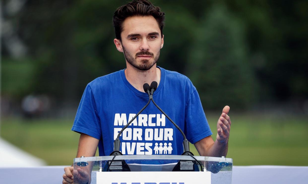
[[[222,109],[222,114],[217,121],[217,136],[216,140],[220,143],[228,143],[231,120],[228,116],[230,107],[226,105],[224,109]]]

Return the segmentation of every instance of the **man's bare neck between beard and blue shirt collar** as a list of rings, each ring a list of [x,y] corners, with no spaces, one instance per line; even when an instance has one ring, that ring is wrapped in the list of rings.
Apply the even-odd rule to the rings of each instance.
[[[126,70],[124,72],[127,81],[141,92],[144,92],[144,83],[151,84],[151,82],[156,81],[159,85],[160,82],[160,69],[156,67],[156,64],[154,64],[149,70],[142,71],[126,62]]]

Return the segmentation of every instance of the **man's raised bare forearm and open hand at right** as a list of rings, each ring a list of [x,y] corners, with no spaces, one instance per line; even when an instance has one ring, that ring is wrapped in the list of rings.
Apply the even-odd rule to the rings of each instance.
[[[228,116],[229,110],[230,107],[225,106],[217,121],[217,136],[215,142],[211,136],[208,136],[194,144],[201,156],[221,157],[227,155],[231,126],[231,120]]]

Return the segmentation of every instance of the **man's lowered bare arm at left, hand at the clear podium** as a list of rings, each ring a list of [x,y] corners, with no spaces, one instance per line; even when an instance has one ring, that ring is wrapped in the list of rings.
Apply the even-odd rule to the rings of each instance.
[[[91,137],[87,134],[81,133],[80,138],[79,138],[78,151],[77,151],[76,158],[79,158],[81,156],[85,156],[85,157],[95,156],[98,143],[99,143],[98,139]],[[62,181],[63,184],[73,183],[74,181],[73,165],[71,167],[64,168],[65,173],[63,174],[63,181]],[[81,180],[90,183],[91,182],[91,170],[92,170],[92,166],[85,167],[84,170],[78,168],[75,174],[79,174]]]

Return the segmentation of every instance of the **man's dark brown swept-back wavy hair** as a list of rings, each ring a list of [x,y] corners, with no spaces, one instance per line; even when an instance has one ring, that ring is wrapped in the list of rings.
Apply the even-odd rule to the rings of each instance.
[[[150,15],[156,19],[160,27],[161,36],[163,36],[165,13],[160,11],[160,7],[154,6],[148,0],[134,0],[115,10],[115,14],[112,19],[113,27],[115,28],[115,37],[121,40],[123,22],[127,17]]]

